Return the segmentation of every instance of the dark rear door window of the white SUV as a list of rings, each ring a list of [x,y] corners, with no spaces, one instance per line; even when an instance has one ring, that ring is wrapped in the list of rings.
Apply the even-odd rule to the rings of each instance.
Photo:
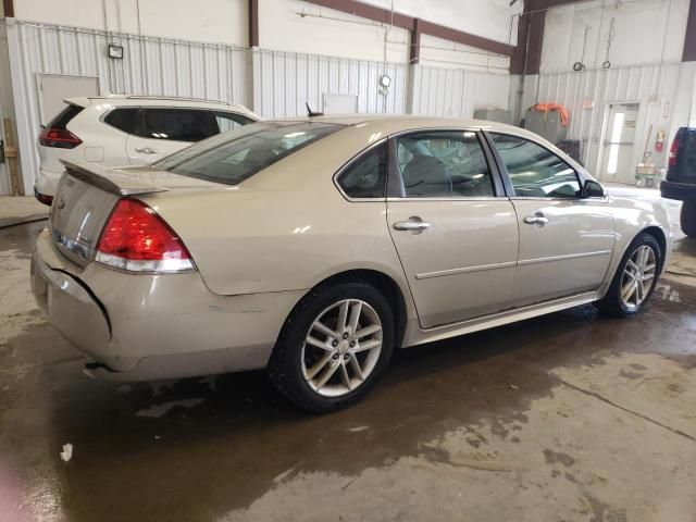
[[[216,134],[210,111],[195,109],[142,109],[139,135],[150,139],[200,141]]]

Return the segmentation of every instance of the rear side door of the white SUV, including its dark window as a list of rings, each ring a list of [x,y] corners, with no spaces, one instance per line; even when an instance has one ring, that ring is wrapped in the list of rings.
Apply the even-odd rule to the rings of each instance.
[[[216,128],[208,110],[145,107],[139,128],[126,141],[128,161],[152,163],[216,134]]]

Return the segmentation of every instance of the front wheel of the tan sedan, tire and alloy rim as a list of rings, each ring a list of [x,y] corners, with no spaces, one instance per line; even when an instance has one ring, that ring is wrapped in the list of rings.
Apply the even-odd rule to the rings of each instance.
[[[596,302],[599,311],[619,318],[638,313],[655,290],[661,262],[657,239],[641,233],[623,254],[606,296]]]

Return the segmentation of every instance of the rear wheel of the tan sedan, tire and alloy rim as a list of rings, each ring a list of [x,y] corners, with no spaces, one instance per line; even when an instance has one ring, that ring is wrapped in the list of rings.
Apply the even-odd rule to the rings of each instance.
[[[323,413],[364,397],[394,349],[387,299],[362,281],[320,286],[293,310],[278,337],[269,375],[299,408]]]

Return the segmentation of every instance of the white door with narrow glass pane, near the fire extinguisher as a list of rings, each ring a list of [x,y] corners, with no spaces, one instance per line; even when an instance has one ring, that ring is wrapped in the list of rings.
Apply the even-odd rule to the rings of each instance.
[[[601,167],[601,179],[605,182],[633,184],[635,181],[633,147],[638,108],[637,103],[609,105]]]

